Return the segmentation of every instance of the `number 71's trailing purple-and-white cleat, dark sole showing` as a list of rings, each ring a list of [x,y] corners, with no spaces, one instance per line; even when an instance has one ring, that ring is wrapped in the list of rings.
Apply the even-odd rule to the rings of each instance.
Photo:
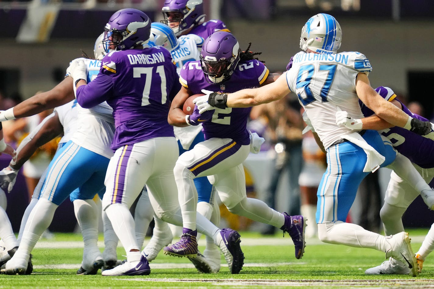
[[[218,246],[226,259],[231,274],[240,273],[244,264],[244,253],[241,250],[240,234],[231,229],[222,229],[218,238]]]

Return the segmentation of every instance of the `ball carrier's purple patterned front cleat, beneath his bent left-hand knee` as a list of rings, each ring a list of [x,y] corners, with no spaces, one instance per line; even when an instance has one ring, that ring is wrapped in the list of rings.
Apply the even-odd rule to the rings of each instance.
[[[181,239],[167,247],[164,247],[164,255],[177,257],[196,257],[197,256],[197,230],[183,228]]]

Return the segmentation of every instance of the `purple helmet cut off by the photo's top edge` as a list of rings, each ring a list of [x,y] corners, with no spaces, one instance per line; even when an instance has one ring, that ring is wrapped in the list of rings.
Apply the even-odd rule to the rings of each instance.
[[[202,0],[165,0],[161,13],[164,16],[161,23],[167,24],[176,36],[204,22],[205,18]]]

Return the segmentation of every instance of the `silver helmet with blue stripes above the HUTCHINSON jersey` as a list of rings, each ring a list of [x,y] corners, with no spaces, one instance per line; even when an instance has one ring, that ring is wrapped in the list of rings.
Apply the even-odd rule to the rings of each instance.
[[[331,54],[341,47],[342,30],[335,17],[319,13],[310,17],[301,30],[300,48]]]

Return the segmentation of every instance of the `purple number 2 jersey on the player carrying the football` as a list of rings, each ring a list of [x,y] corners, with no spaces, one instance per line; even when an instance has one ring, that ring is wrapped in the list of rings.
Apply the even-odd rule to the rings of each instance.
[[[240,61],[229,80],[211,84],[207,82],[201,62],[191,61],[181,69],[179,80],[181,85],[190,89],[193,94],[202,93],[202,89],[229,93],[258,87],[268,74],[268,69],[260,61]],[[216,108],[212,119],[202,123],[205,139],[232,138],[240,144],[249,144],[246,125],[250,110],[251,108]]]

